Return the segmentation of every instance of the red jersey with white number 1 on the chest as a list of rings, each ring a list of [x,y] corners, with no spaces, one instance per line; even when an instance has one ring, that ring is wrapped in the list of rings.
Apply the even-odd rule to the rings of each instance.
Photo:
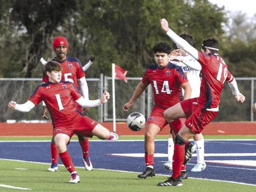
[[[70,126],[82,118],[81,112],[75,107],[75,100],[82,95],[71,82],[47,82],[41,84],[33,92],[29,100],[38,105],[42,100],[52,117],[53,126]]]

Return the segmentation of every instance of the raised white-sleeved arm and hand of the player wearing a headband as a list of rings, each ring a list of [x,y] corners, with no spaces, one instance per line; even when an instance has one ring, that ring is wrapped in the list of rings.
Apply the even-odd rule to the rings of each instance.
[[[166,34],[183,50],[188,52],[193,58],[198,60],[198,51],[193,48],[188,42],[186,42],[183,38],[181,38],[179,35],[174,33],[173,30],[171,30],[168,26],[168,22],[165,18],[160,20],[160,24],[162,29],[166,32]]]

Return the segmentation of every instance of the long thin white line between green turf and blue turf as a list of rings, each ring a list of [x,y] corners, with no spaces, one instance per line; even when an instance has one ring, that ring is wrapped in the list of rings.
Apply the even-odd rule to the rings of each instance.
[[[24,160],[16,160],[16,159],[0,159],[0,160],[9,160],[9,161],[19,161],[19,162],[26,162],[26,163],[37,163],[37,164],[45,164],[50,165],[50,163],[42,163],[42,162],[34,162],[34,161],[24,161]],[[58,166],[64,166],[64,165],[58,165]],[[84,167],[77,167],[77,168],[84,168]],[[140,172],[132,172],[132,171],[123,171],[123,170],[113,170],[113,169],[103,169],[103,168],[93,168],[97,170],[106,170],[106,171],[118,171],[118,172],[124,172],[124,173],[140,173]],[[162,174],[156,174],[159,176],[170,176],[170,175],[162,175]],[[251,185],[256,186],[256,184],[245,184],[245,183],[239,183],[234,181],[224,181],[224,180],[217,180],[217,179],[203,179],[203,178],[195,178],[195,177],[189,177],[191,179],[201,179],[201,180],[209,180],[209,181],[218,181],[218,182],[225,182],[225,183],[232,183],[232,184],[243,184],[243,185]]]

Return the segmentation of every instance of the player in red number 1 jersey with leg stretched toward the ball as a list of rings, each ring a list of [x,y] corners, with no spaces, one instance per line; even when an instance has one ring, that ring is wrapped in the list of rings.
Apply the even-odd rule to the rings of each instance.
[[[33,92],[29,100],[24,104],[16,104],[10,101],[8,107],[22,112],[28,112],[41,101],[46,103],[52,117],[54,126],[54,141],[64,166],[71,173],[70,183],[80,181],[72,159],[67,151],[66,145],[70,142],[73,134],[92,137],[93,135],[102,140],[117,140],[118,135],[99,124],[89,117],[82,116],[76,108],[75,103],[82,107],[96,107],[106,102],[110,95],[108,92],[102,94],[99,100],[86,100],[78,92],[73,83],[61,81],[62,67],[58,62],[49,61],[45,66],[46,75],[49,77],[47,83],[41,84]]]

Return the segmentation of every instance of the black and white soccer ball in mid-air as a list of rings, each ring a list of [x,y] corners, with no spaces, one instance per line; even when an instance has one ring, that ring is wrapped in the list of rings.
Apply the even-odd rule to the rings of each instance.
[[[141,113],[131,113],[127,117],[127,125],[132,131],[140,131],[145,126],[145,117]]]

